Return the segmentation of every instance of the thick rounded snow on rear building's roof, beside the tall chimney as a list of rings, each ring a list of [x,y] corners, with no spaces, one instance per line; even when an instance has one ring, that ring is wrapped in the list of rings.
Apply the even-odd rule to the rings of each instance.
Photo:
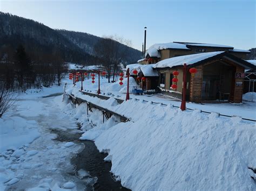
[[[147,51],[145,52],[145,56],[147,54],[150,55],[150,57],[157,57],[160,58],[160,53],[158,52],[160,49],[190,49],[187,48],[184,44],[179,43],[162,43],[162,44],[154,44]]]

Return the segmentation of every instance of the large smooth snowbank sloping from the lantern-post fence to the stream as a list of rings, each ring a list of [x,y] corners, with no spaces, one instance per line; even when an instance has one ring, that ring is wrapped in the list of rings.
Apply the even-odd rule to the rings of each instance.
[[[251,178],[255,174],[248,169],[256,167],[255,123],[200,110],[181,111],[171,104],[165,107],[133,99],[110,106],[99,98],[81,96],[131,119],[118,123],[110,118],[81,138],[94,140],[99,151],[109,153],[106,160],[112,161],[111,171],[123,186],[132,190],[255,189]]]

